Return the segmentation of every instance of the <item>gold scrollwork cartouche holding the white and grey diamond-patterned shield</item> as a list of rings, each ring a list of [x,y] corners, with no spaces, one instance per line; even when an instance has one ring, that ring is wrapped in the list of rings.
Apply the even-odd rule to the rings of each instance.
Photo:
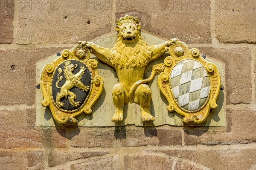
[[[169,112],[184,116],[185,124],[201,124],[210,109],[218,105],[221,77],[215,64],[204,60],[198,49],[183,42],[169,47],[166,69],[158,77],[160,91],[167,99]]]

